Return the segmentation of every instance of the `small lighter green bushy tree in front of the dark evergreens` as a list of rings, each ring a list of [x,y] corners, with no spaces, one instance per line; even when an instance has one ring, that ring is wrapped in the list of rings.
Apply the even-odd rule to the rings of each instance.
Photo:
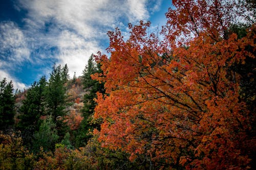
[[[58,141],[56,125],[53,122],[52,116],[42,122],[39,131],[34,134],[33,148],[34,152],[38,152],[42,147],[44,151],[53,151],[55,143]]]

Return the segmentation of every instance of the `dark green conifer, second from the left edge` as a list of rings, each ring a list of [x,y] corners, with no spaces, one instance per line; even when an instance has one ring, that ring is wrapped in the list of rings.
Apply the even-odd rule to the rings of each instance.
[[[26,99],[20,107],[20,119],[17,127],[22,130],[24,143],[29,147],[35,131],[38,131],[39,118],[45,114],[44,108],[44,90],[46,87],[46,78],[42,77],[39,82],[34,82],[26,93]]]

